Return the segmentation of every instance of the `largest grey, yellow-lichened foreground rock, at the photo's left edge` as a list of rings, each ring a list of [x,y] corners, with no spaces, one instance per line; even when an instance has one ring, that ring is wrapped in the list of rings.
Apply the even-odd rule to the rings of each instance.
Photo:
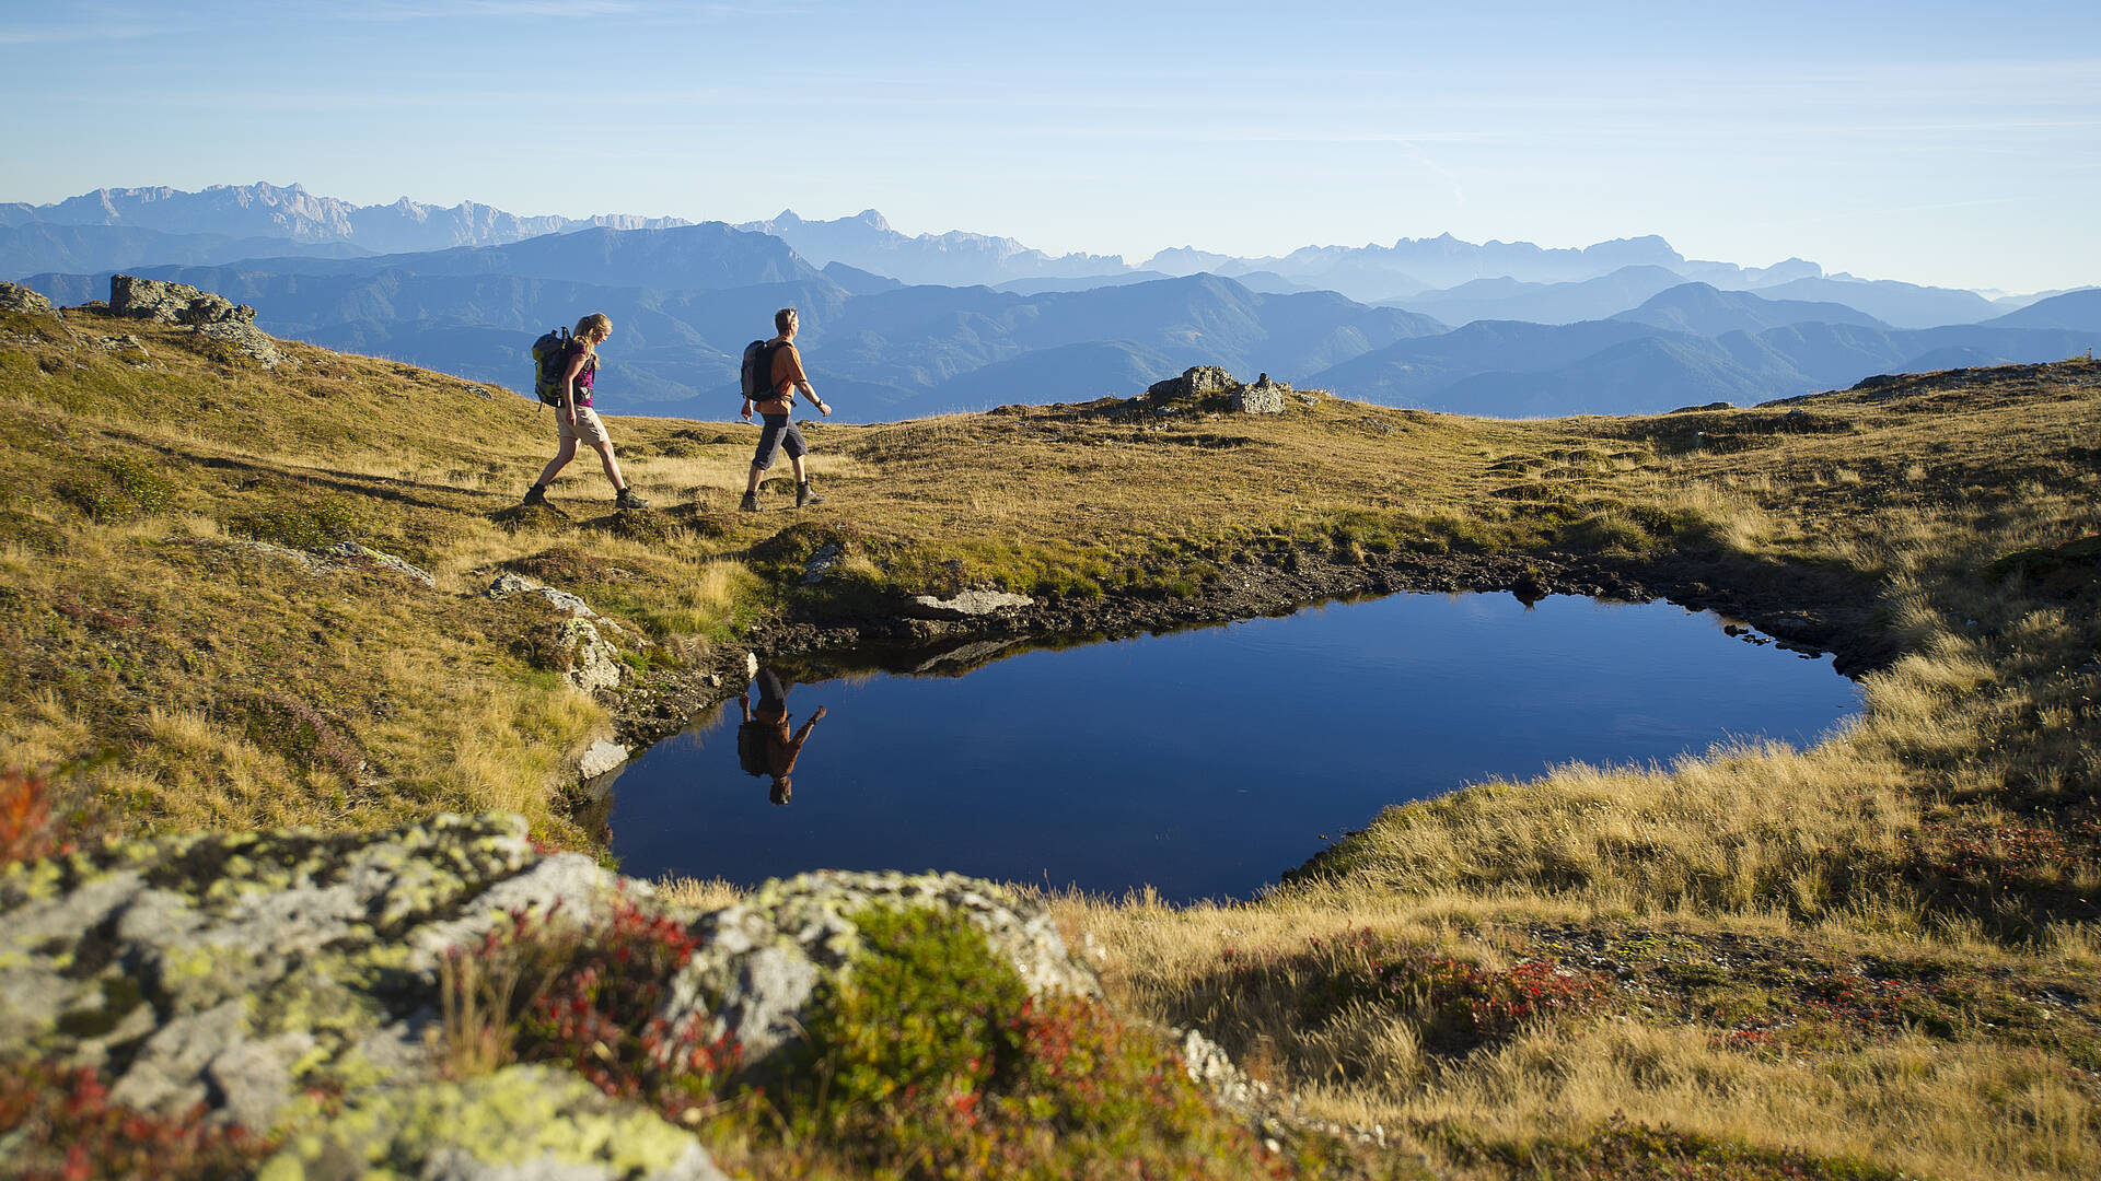
[[[97,1065],[137,1107],[275,1118],[311,1078],[418,1076],[448,948],[590,920],[620,878],[519,817],[191,834],[0,874],[0,1051]],[[647,887],[628,883],[630,895]]]

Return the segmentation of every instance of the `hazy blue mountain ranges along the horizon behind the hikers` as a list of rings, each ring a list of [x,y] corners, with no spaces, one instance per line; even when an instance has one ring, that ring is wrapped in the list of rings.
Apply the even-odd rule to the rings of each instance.
[[[351,206],[298,185],[0,206],[0,275],[84,303],[116,269],[250,303],[282,336],[513,389],[525,340],[605,311],[609,406],[702,418],[735,412],[735,357],[782,305],[803,309],[811,376],[847,420],[1132,393],[1193,364],[1469,414],[1656,412],[2059,359],[2101,336],[2101,290],[1988,301],[1801,258],[1687,261],[1660,237],[1181,248],[1128,267],[981,233],[903,235],[874,210],[567,221]]]

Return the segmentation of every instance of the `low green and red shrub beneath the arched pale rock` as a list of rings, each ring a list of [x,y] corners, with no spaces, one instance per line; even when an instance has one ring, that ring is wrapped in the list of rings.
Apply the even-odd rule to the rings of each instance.
[[[796,1137],[882,1177],[1275,1177],[1153,1034],[1032,998],[969,925],[855,916],[868,952],[824,996],[782,1095]]]

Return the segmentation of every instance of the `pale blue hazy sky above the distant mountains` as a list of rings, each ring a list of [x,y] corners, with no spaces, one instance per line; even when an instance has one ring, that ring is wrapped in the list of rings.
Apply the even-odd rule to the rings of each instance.
[[[2101,4],[15,4],[0,200],[880,208],[1139,263],[1450,231],[2101,282]],[[27,111],[27,113],[23,113]]]

